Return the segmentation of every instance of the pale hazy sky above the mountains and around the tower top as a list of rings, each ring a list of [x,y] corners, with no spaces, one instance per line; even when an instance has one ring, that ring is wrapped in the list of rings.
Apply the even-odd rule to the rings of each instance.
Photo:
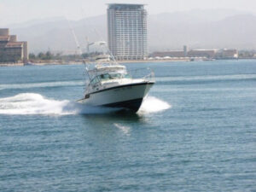
[[[256,13],[256,0],[0,0],[0,26],[65,15],[71,20],[102,15],[106,3],[145,3],[150,15],[218,8]]]

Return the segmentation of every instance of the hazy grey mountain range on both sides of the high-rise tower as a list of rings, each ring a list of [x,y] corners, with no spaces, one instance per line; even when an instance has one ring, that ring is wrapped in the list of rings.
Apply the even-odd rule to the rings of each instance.
[[[255,15],[231,9],[193,9],[148,15],[148,48],[150,51],[182,49],[186,44],[192,49],[256,49],[255,23]],[[107,41],[106,15],[70,21],[70,24],[82,48],[85,48],[86,37],[89,41]],[[19,40],[29,42],[31,52],[68,53],[76,49],[67,20],[62,17],[32,20],[9,28]]]

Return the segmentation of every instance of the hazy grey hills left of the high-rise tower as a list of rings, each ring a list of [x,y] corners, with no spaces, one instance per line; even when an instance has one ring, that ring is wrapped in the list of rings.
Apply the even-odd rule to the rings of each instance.
[[[103,39],[106,39],[106,22],[106,16],[99,15],[84,20],[71,20],[70,26],[75,31],[80,46],[85,48],[86,37],[89,37],[90,41],[99,40],[99,35],[96,35],[95,29],[101,33]],[[30,26],[10,28],[10,32],[17,34],[20,40],[28,41],[31,52],[38,53],[39,51],[51,50],[68,53],[76,49],[72,31],[64,17],[46,22],[33,22]]]

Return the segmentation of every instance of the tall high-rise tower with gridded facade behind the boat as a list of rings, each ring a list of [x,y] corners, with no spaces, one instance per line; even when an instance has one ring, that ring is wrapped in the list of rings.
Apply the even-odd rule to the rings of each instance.
[[[117,60],[148,56],[147,11],[143,4],[108,4],[108,47]]]

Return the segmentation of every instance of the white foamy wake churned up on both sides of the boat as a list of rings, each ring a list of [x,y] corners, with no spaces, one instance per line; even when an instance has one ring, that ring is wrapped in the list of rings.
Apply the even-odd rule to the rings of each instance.
[[[139,113],[155,113],[171,106],[153,96],[148,96]],[[0,114],[95,114],[113,113],[119,109],[91,107],[70,102],[68,100],[57,101],[46,98],[37,93],[21,93],[16,96],[0,98]]]

